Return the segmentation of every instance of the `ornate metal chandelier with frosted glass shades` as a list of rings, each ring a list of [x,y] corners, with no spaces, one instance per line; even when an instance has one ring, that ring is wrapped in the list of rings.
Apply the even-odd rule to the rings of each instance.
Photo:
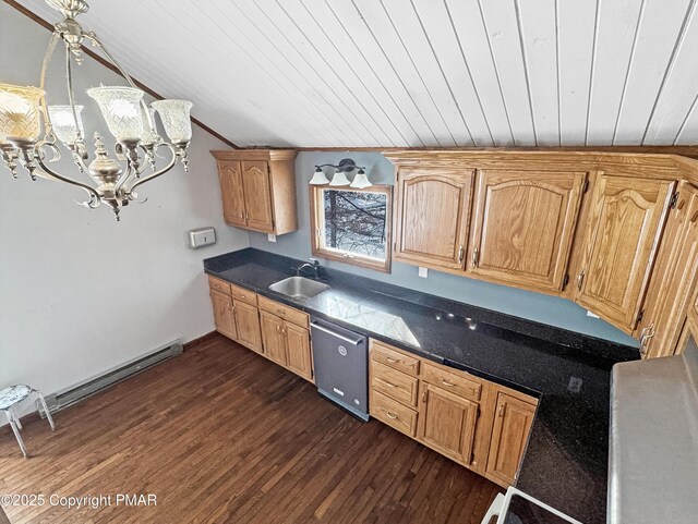
[[[0,82],[0,150],[5,167],[17,178],[19,167],[28,172],[32,180],[37,175],[81,187],[88,198],[81,203],[94,209],[100,204],[111,208],[116,219],[119,211],[130,202],[139,199],[136,188],[171,170],[179,160],[188,169],[186,148],[192,137],[188,100],[158,100],[148,107],[144,93],[118,64],[93,32],[83,29],[75,17],[87,11],[84,0],[46,0],[64,17],[55,25],[44,64],[40,86],[23,87]],[[105,142],[94,133],[94,155],[87,151],[85,131],[81,112],[83,106],[75,103],[73,93],[73,63],[83,61],[82,45],[89,41],[101,50],[129,86],[103,86],[87,89],[107,123],[109,133],[116,141],[115,158],[109,156]],[[48,65],[56,47],[62,42],[65,50],[67,100],[63,105],[49,106],[46,100],[45,83]],[[67,102],[67,103],[65,103]],[[155,112],[169,138],[164,141],[156,132]],[[41,124],[44,135],[41,134]],[[49,167],[61,157],[60,142],[72,155],[79,178],[59,173]],[[166,158],[160,149],[169,151],[167,163],[158,169],[157,159]],[[146,168],[151,167],[152,172]],[[86,175],[80,175],[86,173]],[[145,174],[144,174],[145,173]],[[83,182],[80,179],[84,179]],[[88,183],[89,182],[89,183]]]

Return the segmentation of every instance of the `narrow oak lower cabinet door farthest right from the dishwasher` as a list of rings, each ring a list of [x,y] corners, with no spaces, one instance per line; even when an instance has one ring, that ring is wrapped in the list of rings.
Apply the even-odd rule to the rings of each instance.
[[[506,393],[497,394],[494,428],[486,473],[505,484],[514,484],[519,470],[535,406]]]

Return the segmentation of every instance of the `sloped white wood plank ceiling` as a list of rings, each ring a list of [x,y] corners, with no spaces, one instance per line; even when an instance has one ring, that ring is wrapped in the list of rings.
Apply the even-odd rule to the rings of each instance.
[[[685,145],[697,1],[94,0],[81,21],[240,146]]]

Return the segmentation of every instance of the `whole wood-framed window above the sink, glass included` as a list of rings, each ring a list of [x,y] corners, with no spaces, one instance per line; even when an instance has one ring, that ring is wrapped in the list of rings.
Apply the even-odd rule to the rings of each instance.
[[[392,190],[311,186],[313,256],[390,272]]]

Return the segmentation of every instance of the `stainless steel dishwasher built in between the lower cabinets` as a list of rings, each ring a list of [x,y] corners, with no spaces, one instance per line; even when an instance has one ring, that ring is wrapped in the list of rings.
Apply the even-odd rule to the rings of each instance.
[[[321,318],[310,324],[317,392],[351,415],[369,419],[366,338]]]

